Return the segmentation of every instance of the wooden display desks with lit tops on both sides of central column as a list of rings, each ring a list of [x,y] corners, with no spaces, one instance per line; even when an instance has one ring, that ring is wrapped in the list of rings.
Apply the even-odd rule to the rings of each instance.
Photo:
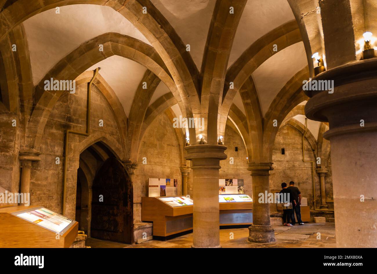
[[[192,230],[194,201],[185,196],[141,198],[141,221],[153,222],[153,236]],[[250,225],[253,199],[246,194],[219,195],[220,225]]]

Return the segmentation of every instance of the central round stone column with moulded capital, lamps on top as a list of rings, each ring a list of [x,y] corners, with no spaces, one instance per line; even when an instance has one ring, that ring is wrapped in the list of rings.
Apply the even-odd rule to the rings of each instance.
[[[225,160],[226,146],[189,145],[186,160],[193,169],[193,245],[192,247],[221,247],[219,220],[219,169]]]

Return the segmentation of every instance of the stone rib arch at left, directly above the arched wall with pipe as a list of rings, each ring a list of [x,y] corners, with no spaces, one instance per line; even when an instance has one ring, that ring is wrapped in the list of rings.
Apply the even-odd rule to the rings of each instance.
[[[103,52],[98,50],[98,44],[104,45]],[[85,72],[87,68],[112,55],[129,58],[144,65],[162,79],[175,96],[179,96],[169,71],[153,47],[127,35],[104,33],[81,44],[81,46],[58,62],[40,81],[35,88],[35,98],[37,98],[35,100],[37,102],[28,125],[27,136],[36,134],[33,133],[33,128],[37,128],[38,133],[43,132],[49,113],[60,96],[66,92],[45,91],[45,80],[51,78],[56,80],[74,80],[81,75],[81,73]],[[36,140],[36,142],[38,142],[38,140]],[[34,147],[31,149],[38,149],[38,143],[33,145]]]

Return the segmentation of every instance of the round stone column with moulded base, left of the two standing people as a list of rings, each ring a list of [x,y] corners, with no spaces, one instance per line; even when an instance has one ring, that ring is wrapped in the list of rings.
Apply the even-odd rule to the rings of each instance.
[[[270,224],[270,205],[267,202],[260,203],[259,193],[270,191],[270,170],[273,163],[249,163],[251,170],[253,189],[253,224],[249,227],[249,242],[269,243],[275,241],[274,229]]]

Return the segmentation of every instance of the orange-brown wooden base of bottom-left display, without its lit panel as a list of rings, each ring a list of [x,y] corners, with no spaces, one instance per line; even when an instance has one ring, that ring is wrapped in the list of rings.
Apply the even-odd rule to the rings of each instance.
[[[12,215],[14,212],[34,208],[38,207],[11,206],[0,209],[0,248],[70,247],[77,236],[78,222],[74,221],[75,223],[59,236],[60,239],[56,239],[55,232]]]

